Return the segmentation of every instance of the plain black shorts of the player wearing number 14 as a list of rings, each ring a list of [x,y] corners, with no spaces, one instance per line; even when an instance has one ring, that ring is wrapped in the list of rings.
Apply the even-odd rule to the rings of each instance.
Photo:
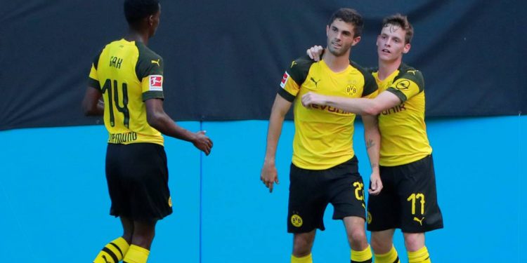
[[[172,213],[164,148],[153,143],[108,144],[110,215],[151,222]]]

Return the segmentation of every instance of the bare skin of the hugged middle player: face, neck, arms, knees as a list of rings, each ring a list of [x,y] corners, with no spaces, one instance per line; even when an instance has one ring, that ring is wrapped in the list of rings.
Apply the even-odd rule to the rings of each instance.
[[[334,20],[331,25],[326,27],[327,52],[323,56],[324,62],[333,72],[342,72],[349,67],[349,55],[351,46],[355,46],[360,41],[360,36],[353,35],[353,25],[342,20]],[[276,95],[275,102],[271,109],[269,127],[267,133],[266,156],[261,169],[260,180],[273,191],[274,184],[279,184],[278,172],[275,166],[276,148],[278,139],[282,133],[282,124],[285,114],[289,111],[292,102],[285,100],[280,95]],[[379,176],[379,141],[380,135],[375,116],[363,116],[365,119],[365,140],[369,143],[368,155],[372,163],[372,181],[376,182],[376,192],[382,189]],[[367,124],[366,124],[367,123]],[[343,219],[346,234],[351,249],[365,250],[367,240],[365,234],[365,220],[361,217],[345,217]],[[294,234],[293,236],[293,255],[295,257],[305,257],[311,253],[315,240],[315,230],[308,233]]]

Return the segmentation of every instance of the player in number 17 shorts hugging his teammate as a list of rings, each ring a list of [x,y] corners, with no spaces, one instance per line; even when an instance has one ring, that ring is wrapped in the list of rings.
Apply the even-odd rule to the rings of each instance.
[[[413,28],[400,14],[384,18],[377,36],[379,68],[372,72],[379,85],[374,99],[349,99],[307,93],[302,104],[324,105],[356,114],[379,116],[380,173],[384,189],[367,202],[367,229],[372,231],[376,263],[399,262],[393,232],[403,231],[408,262],[431,262],[424,232],[443,228],[437,203],[432,149],[424,123],[424,79],[419,70],[403,63],[410,51]],[[308,55],[318,60],[322,47]]]

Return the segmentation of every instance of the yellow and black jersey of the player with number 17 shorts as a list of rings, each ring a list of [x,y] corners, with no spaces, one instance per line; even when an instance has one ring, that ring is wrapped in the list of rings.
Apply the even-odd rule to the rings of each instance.
[[[401,64],[384,80],[373,70],[379,86],[395,94],[401,104],[379,114],[381,166],[401,166],[431,154],[427,126],[424,123],[424,79],[419,70]]]

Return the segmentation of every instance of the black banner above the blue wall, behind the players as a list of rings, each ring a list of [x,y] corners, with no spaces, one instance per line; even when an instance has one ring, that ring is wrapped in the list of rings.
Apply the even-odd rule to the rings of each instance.
[[[415,27],[405,62],[424,74],[427,116],[527,111],[525,1],[161,1],[149,47],[165,62],[164,107],[176,120],[268,119],[283,71],[340,7],[365,32],[351,58],[376,66],[382,18]],[[0,130],[100,123],[80,103],[93,57],[126,33],[122,1],[0,0]]]

